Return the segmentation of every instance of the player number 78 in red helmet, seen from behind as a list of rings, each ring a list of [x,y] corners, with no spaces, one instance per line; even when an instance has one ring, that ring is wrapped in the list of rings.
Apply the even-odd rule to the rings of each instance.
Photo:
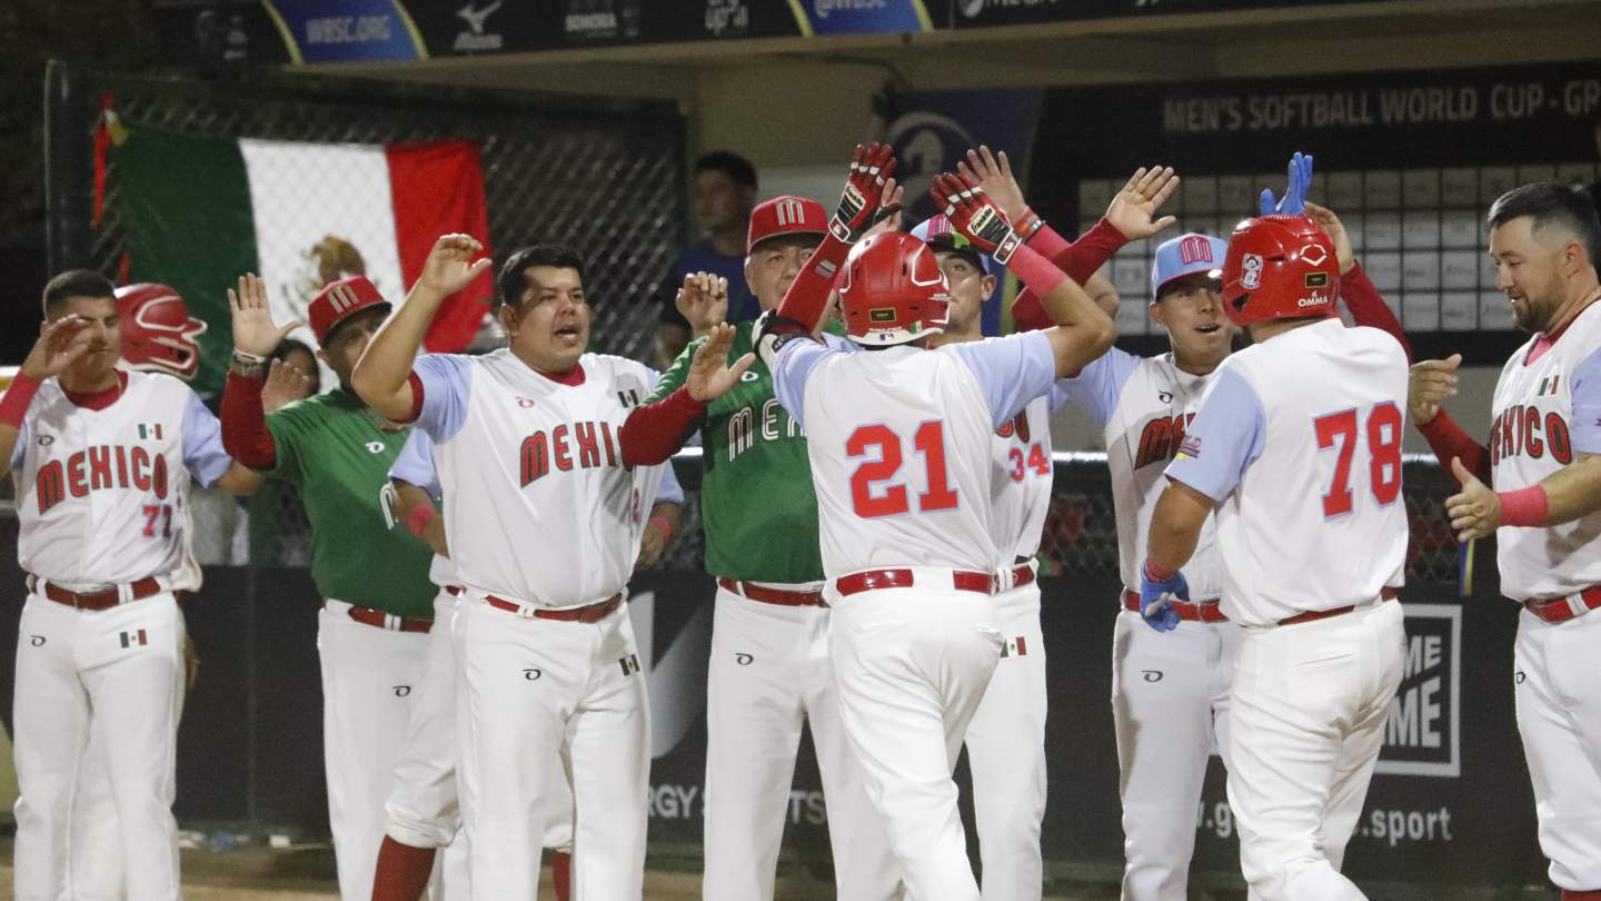
[[[1298,213],[1306,183],[1310,160],[1281,208]],[[1404,662],[1401,604],[1388,601],[1407,545],[1406,354],[1334,317],[1338,284],[1334,244],[1305,215],[1234,229],[1222,300],[1254,345],[1209,378],[1142,564],[1142,616],[1172,632],[1177,604],[1194,603],[1178,569],[1215,510],[1218,606],[1244,627],[1228,798],[1263,901],[1366,898],[1340,863]]]

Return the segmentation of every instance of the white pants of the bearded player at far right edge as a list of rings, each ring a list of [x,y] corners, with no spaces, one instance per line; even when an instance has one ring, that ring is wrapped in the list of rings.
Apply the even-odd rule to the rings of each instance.
[[[1513,696],[1518,734],[1534,782],[1540,851],[1551,882],[1601,890],[1601,697],[1595,657],[1601,614],[1545,622],[1518,616]]]

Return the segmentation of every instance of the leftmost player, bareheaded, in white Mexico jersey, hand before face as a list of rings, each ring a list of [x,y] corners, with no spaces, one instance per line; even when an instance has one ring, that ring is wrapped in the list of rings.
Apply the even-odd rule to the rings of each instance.
[[[216,418],[183,382],[117,369],[110,282],[62,273],[45,287],[43,313],[42,337],[0,399],[0,460],[16,484],[18,558],[29,572],[14,701],[16,896],[75,891],[75,787],[104,779],[125,861],[114,891],[178,898],[176,593],[200,585],[189,479],[235,494],[258,479],[227,457]],[[98,766],[104,776],[86,774]]]

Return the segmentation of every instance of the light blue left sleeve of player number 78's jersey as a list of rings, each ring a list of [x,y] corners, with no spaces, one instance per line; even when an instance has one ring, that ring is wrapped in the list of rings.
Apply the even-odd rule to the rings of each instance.
[[[1244,375],[1222,369],[1178,446],[1178,457],[1167,465],[1167,478],[1223,500],[1262,455],[1266,433],[1268,417],[1257,390]]]

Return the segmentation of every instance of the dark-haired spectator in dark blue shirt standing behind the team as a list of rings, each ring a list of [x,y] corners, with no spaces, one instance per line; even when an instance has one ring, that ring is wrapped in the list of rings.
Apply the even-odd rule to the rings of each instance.
[[[690,343],[690,324],[674,306],[684,276],[711,273],[728,279],[728,322],[756,319],[760,306],[744,284],[744,229],[756,207],[751,160],[712,151],[695,160],[695,224],[703,237],[679,252],[661,282],[656,325],[656,369],[666,370]]]

